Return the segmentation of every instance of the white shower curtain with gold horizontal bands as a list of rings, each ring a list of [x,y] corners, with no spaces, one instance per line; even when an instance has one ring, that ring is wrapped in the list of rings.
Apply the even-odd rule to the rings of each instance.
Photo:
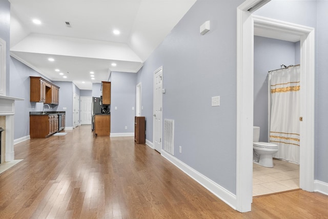
[[[274,157],[299,164],[300,67],[269,73],[271,92],[270,142],[279,151]]]

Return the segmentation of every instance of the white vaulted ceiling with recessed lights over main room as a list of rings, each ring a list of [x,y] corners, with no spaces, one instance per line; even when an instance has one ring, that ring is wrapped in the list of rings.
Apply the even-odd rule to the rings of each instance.
[[[111,71],[137,72],[196,0],[9,2],[11,55],[52,81],[90,90],[92,83],[108,81]],[[42,24],[33,24],[34,18]]]

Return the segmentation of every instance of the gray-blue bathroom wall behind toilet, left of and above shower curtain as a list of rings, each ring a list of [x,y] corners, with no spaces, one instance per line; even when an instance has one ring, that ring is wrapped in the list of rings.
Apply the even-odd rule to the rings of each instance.
[[[299,64],[299,42],[254,36],[254,126],[261,142],[268,142],[268,71]]]

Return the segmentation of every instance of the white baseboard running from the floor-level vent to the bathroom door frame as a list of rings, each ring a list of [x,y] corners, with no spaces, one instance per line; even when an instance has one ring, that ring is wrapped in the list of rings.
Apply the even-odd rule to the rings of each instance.
[[[187,175],[192,177],[197,183],[202,185],[204,188],[209,190],[215,196],[220,198],[224,203],[236,210],[237,207],[237,197],[235,194],[231,193],[227,189],[210,180],[210,178],[202,175],[193,168],[189,167],[187,164],[178,160],[175,156],[172,156],[168,152],[161,150],[161,155],[165,157],[172,164],[177,166],[180,170],[185,172]]]

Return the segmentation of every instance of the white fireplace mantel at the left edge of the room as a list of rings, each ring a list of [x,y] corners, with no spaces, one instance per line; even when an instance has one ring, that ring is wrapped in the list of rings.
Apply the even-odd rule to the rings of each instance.
[[[15,101],[24,101],[23,98],[0,95],[0,116],[6,116],[6,152],[5,162],[14,160],[14,114]]]

